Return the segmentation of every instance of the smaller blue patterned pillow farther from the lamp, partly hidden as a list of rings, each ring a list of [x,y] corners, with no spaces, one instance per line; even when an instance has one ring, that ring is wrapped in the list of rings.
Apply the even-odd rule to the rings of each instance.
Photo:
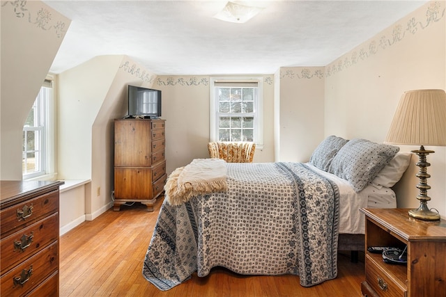
[[[337,137],[328,136],[325,138],[314,150],[312,156],[309,158],[309,163],[317,168],[327,171],[333,157],[341,150],[348,140]]]

